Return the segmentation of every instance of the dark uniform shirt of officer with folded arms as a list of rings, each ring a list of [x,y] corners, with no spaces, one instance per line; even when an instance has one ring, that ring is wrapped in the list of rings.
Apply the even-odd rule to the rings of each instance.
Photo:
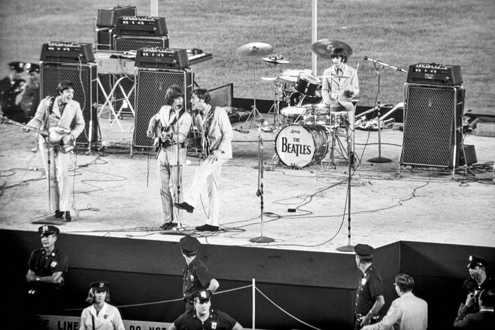
[[[31,256],[28,261],[28,269],[33,271],[37,276],[52,276],[53,273],[62,272],[62,278],[68,271],[69,257],[57,248],[54,248],[50,254],[44,248],[40,248],[31,252]],[[53,288],[64,284],[52,284],[41,282],[30,282],[30,284],[37,285],[37,289],[41,288]]]

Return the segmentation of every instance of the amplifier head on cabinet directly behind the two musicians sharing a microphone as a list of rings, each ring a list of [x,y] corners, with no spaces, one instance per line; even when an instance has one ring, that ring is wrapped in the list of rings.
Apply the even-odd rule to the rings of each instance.
[[[184,69],[189,66],[187,49],[141,48],[136,53],[136,67]]]

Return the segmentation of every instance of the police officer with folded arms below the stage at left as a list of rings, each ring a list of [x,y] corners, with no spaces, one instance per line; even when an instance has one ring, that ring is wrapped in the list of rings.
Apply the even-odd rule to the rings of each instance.
[[[57,312],[62,306],[64,275],[68,270],[69,258],[55,247],[60,230],[51,225],[38,229],[42,248],[31,252],[26,281],[28,298],[34,312]]]

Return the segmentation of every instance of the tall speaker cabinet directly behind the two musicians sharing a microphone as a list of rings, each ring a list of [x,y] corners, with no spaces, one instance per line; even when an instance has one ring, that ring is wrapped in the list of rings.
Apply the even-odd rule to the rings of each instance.
[[[184,90],[185,106],[190,104],[193,88],[193,71],[137,69],[136,75],[136,119],[134,121],[133,145],[151,147],[153,140],[146,136],[149,119],[165,105],[165,93],[172,85]]]

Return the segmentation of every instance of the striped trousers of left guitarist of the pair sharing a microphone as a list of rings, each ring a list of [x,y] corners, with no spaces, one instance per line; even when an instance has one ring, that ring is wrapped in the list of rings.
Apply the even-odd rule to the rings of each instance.
[[[178,180],[181,187],[181,196],[184,193],[182,187],[182,175],[179,177],[177,176],[177,164],[175,164],[175,166],[170,164],[165,151],[160,150],[157,160],[161,204],[163,206],[163,218],[164,222],[167,223],[174,220],[173,203],[180,203],[180,201],[177,200],[177,178],[179,178]],[[183,166],[181,165],[181,174],[182,169]],[[179,217],[180,211],[176,210],[176,212],[179,212],[176,214],[177,217]]]

